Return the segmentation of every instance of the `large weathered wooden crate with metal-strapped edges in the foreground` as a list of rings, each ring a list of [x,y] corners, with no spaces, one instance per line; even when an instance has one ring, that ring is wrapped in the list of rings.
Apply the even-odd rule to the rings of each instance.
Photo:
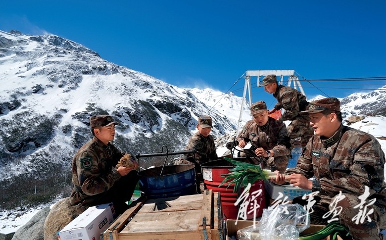
[[[140,198],[101,240],[224,240],[219,192],[157,199]]]

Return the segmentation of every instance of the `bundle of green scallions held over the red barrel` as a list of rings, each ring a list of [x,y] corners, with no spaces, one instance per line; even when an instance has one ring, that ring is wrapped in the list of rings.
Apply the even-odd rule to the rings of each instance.
[[[276,173],[271,172],[270,170],[261,169],[259,165],[237,161],[228,157],[224,157],[224,159],[231,162],[233,165],[235,165],[235,167],[229,169],[230,173],[221,174],[221,176],[225,177],[225,179],[222,181],[219,187],[224,184],[227,184],[228,187],[232,184],[235,184],[233,192],[237,192],[237,190],[241,187],[245,188],[248,183],[253,184],[257,180],[261,179],[264,181],[269,181],[271,177],[276,177]]]

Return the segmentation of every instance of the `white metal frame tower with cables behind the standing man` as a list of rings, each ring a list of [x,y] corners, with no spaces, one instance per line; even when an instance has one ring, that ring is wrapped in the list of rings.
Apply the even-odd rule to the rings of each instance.
[[[252,93],[251,93],[251,85],[250,85],[250,79],[251,77],[257,77],[257,87],[260,86],[260,77],[261,76],[267,76],[270,74],[275,74],[278,78],[278,82],[280,84],[283,84],[283,78],[284,76],[289,76],[288,78],[288,87],[291,87],[291,84],[293,83],[293,88],[299,90],[304,96],[304,90],[299,82],[299,78],[295,76],[295,70],[249,70],[246,71],[245,75],[245,84],[244,84],[244,91],[242,93],[242,101],[241,101],[241,108],[240,108],[240,116],[239,116],[239,123],[237,126],[237,133],[236,136],[239,135],[240,132],[240,124],[242,119],[242,109],[244,107],[245,101],[246,101],[246,92],[248,91],[248,99],[249,99],[249,105],[252,104]],[[279,80],[280,78],[280,80]]]

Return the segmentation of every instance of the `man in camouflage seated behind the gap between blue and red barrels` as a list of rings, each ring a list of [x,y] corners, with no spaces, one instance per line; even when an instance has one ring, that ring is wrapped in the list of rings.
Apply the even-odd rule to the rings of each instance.
[[[176,161],[174,164],[195,165],[197,192],[200,193],[203,190],[204,181],[200,164],[217,159],[217,153],[213,136],[210,135],[212,131],[212,118],[207,115],[199,116],[196,127],[198,131],[190,138],[189,143],[185,147],[186,151],[194,149],[194,155],[186,154],[183,159]]]

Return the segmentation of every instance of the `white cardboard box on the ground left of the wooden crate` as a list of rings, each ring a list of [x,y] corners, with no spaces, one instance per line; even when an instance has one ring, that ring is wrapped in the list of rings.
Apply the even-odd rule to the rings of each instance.
[[[114,220],[112,203],[89,207],[60,232],[59,240],[100,240],[100,233],[105,231]]]

